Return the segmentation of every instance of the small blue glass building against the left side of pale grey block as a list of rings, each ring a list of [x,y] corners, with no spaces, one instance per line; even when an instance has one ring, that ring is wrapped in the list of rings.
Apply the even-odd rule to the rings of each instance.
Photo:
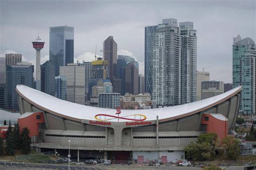
[[[66,77],[65,76],[56,76],[55,77],[55,97],[66,100],[66,93],[67,93],[67,84],[66,84]]]

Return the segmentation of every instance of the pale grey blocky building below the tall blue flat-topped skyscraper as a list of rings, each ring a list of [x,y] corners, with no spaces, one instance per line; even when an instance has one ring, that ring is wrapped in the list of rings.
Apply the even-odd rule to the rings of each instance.
[[[60,66],[59,76],[65,76],[67,79],[66,100],[84,105],[84,67],[74,63],[68,64],[67,66]]]

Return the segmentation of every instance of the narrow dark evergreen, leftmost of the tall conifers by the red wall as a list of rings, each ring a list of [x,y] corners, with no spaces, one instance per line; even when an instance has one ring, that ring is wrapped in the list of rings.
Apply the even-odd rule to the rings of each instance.
[[[14,149],[15,149],[15,133],[14,130],[11,127],[11,120],[9,120],[9,127],[6,134],[6,147],[5,151],[8,155],[14,155]]]

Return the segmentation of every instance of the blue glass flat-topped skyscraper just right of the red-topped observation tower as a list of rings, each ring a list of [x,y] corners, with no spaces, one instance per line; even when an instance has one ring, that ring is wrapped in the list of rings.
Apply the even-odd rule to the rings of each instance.
[[[71,26],[50,27],[50,60],[55,65],[55,76],[59,67],[74,62],[74,28]]]

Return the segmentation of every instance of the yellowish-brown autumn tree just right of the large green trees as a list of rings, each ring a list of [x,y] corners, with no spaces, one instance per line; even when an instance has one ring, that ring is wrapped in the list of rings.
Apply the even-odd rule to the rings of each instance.
[[[226,150],[226,157],[230,160],[237,160],[240,155],[240,141],[233,137],[226,137],[223,139],[222,146]]]

